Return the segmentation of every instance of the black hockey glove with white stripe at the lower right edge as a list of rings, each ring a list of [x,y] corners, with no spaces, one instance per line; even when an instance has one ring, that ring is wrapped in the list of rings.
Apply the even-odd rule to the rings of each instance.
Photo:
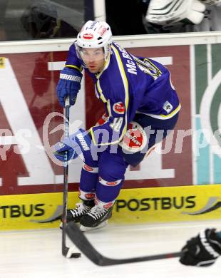
[[[182,249],[180,262],[196,267],[209,267],[221,254],[221,232],[206,229],[188,240]]]

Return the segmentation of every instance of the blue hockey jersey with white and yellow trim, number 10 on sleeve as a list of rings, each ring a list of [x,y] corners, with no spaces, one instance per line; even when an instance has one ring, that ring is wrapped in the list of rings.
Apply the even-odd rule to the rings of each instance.
[[[108,114],[106,123],[90,130],[95,145],[119,143],[135,113],[166,120],[180,110],[178,95],[165,66],[149,58],[133,56],[115,42],[111,50],[100,73],[85,68]],[[83,68],[74,44],[69,49],[66,66],[80,71]]]

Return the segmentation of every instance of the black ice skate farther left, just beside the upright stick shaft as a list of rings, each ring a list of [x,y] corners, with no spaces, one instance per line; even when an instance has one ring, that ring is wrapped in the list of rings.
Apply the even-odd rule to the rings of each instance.
[[[76,208],[73,210],[67,210],[67,223],[70,221],[79,222],[81,217],[86,215],[94,205],[94,200],[82,200],[82,202],[78,202]],[[62,223],[60,227],[62,228]]]

